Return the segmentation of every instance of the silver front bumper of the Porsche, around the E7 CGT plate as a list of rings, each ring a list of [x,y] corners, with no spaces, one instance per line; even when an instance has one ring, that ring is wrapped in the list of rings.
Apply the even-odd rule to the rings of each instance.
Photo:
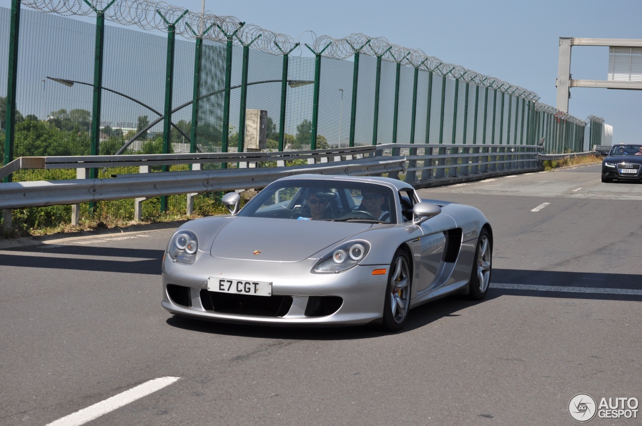
[[[205,253],[202,253],[205,254]],[[209,253],[208,253],[209,254]],[[362,325],[383,316],[390,265],[311,273],[315,260],[261,262],[202,258],[193,265],[163,262],[162,307],[178,316],[265,325]],[[271,296],[208,291],[210,277],[272,282]]]

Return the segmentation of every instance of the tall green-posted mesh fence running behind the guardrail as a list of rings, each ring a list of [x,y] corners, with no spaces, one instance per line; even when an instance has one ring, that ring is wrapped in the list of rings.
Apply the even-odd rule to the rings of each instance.
[[[96,24],[62,15],[94,16]],[[105,25],[100,37],[104,21],[139,30]],[[585,132],[589,123],[537,102],[534,92],[385,38],[322,36],[300,45],[232,17],[139,0],[12,0],[12,10],[0,8],[0,22],[3,164],[21,156],[245,150],[248,110],[267,111],[266,148],[273,150],[532,145],[543,137],[547,153],[562,153],[600,144],[602,134],[600,117],[591,116]],[[12,176],[62,178],[74,172]],[[147,206],[147,217],[180,214],[185,201]],[[89,209],[129,217],[133,201]]]

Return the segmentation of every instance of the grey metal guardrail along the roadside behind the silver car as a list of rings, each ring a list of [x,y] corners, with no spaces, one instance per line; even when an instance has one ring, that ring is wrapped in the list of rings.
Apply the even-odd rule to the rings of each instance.
[[[75,180],[0,183],[4,228],[10,228],[10,209],[72,205],[72,224],[78,223],[78,203],[135,199],[134,219],[141,220],[147,198],[186,194],[187,214],[193,197],[203,192],[265,187],[282,176],[301,173],[381,175],[401,178],[415,187],[480,180],[489,176],[541,170],[539,145],[383,144],[315,151],[114,155],[88,157],[21,157],[0,169],[0,177],[19,169],[76,169]],[[561,157],[566,158],[569,154]],[[285,166],[291,160],[308,164]],[[261,162],[277,167],[258,167]],[[202,170],[202,164],[233,163],[238,168]],[[150,166],[191,164],[191,171],[148,173]],[[96,167],[138,166],[141,173],[90,179]],[[405,172],[404,176],[399,173]]]

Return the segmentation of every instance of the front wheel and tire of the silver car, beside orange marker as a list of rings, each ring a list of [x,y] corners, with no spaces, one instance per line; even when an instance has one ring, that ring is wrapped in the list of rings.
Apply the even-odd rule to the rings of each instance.
[[[397,250],[390,263],[388,285],[383,302],[383,324],[387,331],[398,331],[408,320],[412,275],[410,261],[403,250]]]

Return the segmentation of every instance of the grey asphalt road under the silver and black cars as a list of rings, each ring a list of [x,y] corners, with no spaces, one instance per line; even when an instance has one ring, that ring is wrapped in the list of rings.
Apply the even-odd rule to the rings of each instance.
[[[587,166],[421,193],[489,217],[493,288],[397,334],[174,318],[171,228],[0,250],[0,425],[573,425],[578,393],[642,400],[642,185]]]

